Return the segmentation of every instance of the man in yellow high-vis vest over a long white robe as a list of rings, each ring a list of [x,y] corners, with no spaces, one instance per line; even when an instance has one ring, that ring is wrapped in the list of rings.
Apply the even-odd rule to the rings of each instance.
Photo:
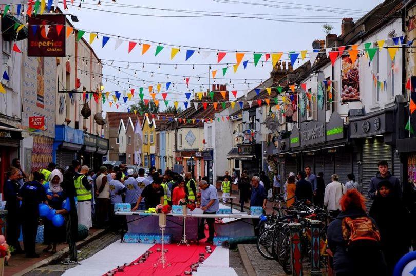
[[[91,218],[91,199],[92,199],[92,185],[88,182],[85,176],[89,171],[88,166],[82,166],[81,172],[74,176],[74,186],[77,191],[77,214],[78,223],[87,226],[89,229],[92,227]]]

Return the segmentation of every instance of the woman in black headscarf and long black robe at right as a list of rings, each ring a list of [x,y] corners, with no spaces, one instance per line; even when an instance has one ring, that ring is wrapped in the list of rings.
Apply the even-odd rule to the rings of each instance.
[[[395,264],[410,247],[410,218],[402,200],[394,195],[394,187],[388,180],[380,181],[369,216],[379,226],[381,244],[389,275]]]

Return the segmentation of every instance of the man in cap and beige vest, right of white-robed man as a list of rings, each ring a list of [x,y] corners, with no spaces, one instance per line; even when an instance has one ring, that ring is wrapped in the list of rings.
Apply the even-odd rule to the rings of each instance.
[[[107,175],[107,167],[101,166],[100,175],[96,178],[97,224],[99,227],[104,227],[110,206],[110,186]]]

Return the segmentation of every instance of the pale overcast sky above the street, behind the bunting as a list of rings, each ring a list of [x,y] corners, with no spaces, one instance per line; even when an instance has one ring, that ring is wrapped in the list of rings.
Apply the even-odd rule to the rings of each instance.
[[[334,27],[332,33],[339,35],[343,17],[352,17],[355,21],[381,2],[380,0],[315,0],[313,2],[295,0],[289,0],[288,2],[275,0],[117,0],[116,3],[112,3],[112,0],[105,0],[101,1],[101,6],[98,7],[97,0],[85,0],[81,9],[77,8],[79,1],[75,1],[74,5],[76,6],[69,6],[68,13],[77,15],[79,19],[79,22],[74,22],[75,28],[86,30],[87,32],[100,32],[119,35],[120,37],[151,40],[162,43],[162,46],[165,46],[163,43],[181,45],[182,50],[173,60],[170,59],[171,46],[166,46],[155,57],[156,44],[154,43],[150,43],[152,47],[144,55],[141,55],[142,48],[138,45],[128,54],[128,42],[124,41],[115,50],[116,39],[110,38],[106,46],[102,48],[102,37],[99,35],[99,40],[94,41],[92,47],[98,57],[102,59],[158,63],[157,65],[145,64],[144,68],[142,63],[128,64],[128,68],[131,69],[153,72],[152,77],[151,73],[146,72],[137,71],[135,75],[134,70],[120,68],[119,71],[119,66],[127,67],[126,62],[120,63],[115,61],[111,67],[111,61],[103,61],[103,63],[108,64],[104,65],[103,74],[111,76],[107,77],[107,82],[105,82],[105,76],[103,77],[105,91],[128,90],[129,84],[127,83],[129,81],[131,88],[137,89],[137,94],[139,87],[145,87],[144,97],[151,99],[147,89],[148,86],[154,85],[156,89],[156,84],[160,82],[162,84],[161,91],[164,92],[166,90],[165,83],[171,81],[175,83],[175,87],[171,84],[167,100],[178,100],[183,108],[182,102],[186,101],[185,92],[188,92],[188,90],[192,91],[192,89],[195,92],[200,90],[206,91],[208,83],[213,84],[212,78],[210,80],[206,79],[209,76],[209,65],[198,65],[199,63],[211,63],[212,70],[218,69],[215,83],[224,84],[226,82],[228,90],[238,90],[238,95],[242,95],[243,90],[255,87],[255,82],[259,83],[261,80],[269,78],[272,69],[270,61],[264,62],[262,66],[261,61],[264,61],[264,56],[255,68],[253,63],[250,63],[253,61],[253,54],[246,53],[242,61],[249,60],[247,69],[244,70],[241,64],[237,73],[234,74],[232,65],[236,63],[235,54],[228,53],[220,62],[229,62],[228,72],[223,77],[222,68],[226,67],[226,65],[217,65],[215,52],[203,59],[201,54],[197,54],[196,50],[195,54],[188,61],[185,61],[186,51],[184,49],[186,48],[184,46],[269,53],[308,50],[312,48],[313,40],[325,38],[322,28],[323,24],[332,24]],[[133,14],[140,14],[140,16]],[[209,14],[223,16],[206,16]],[[86,33],[84,38],[89,41],[89,33]],[[282,57],[282,59],[287,58],[287,55]],[[159,69],[159,63],[171,63],[172,65],[161,65]],[[178,65],[177,69],[175,69],[176,63],[186,63],[187,65]],[[192,69],[193,65],[194,69]],[[167,79],[166,75],[156,73],[171,75]],[[180,75],[180,77],[172,75]],[[114,81],[113,76],[116,76],[116,81]],[[189,88],[187,88],[183,76],[191,77]],[[198,81],[198,77],[192,76],[201,76],[201,79]],[[219,78],[227,78],[227,80]],[[144,84],[142,80],[145,80]],[[118,81],[120,82],[119,84]],[[157,95],[156,98],[161,99],[162,97]],[[135,95],[135,99],[127,103],[134,103],[138,99],[138,95]],[[121,98],[120,100],[122,101]],[[173,104],[173,102],[170,104]],[[160,103],[160,107],[163,110],[165,107],[164,103]],[[119,109],[116,110],[115,105],[109,108],[105,104],[104,110],[127,111],[127,106],[121,104]]]

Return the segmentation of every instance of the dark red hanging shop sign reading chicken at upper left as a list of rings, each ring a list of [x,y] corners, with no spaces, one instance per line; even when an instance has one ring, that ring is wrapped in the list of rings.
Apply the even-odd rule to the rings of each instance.
[[[27,55],[28,56],[65,56],[65,15],[36,15],[30,16],[28,25],[37,25],[37,28],[28,28]],[[45,25],[49,26],[46,32]],[[60,31],[58,32],[58,30]],[[46,34],[47,33],[47,34]]]

